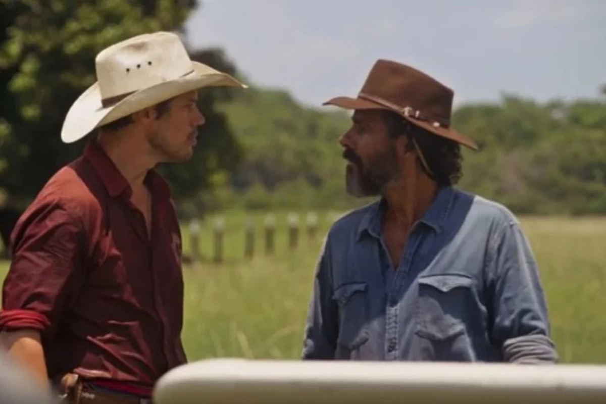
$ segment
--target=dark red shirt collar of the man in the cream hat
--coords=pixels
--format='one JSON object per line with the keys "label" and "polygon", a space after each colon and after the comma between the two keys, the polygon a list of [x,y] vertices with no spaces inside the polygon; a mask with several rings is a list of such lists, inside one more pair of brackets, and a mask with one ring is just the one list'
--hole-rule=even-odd
{"label": "dark red shirt collar of the man in the cream hat", "polygon": [[[94,139],[86,145],[84,149],[84,157],[87,159],[95,170],[95,173],[101,179],[107,193],[110,197],[123,195],[130,197],[131,188],[128,180],[122,175],[118,167],[112,159],[105,153],[105,150]],[[149,170],[145,176],[145,184],[150,187],[152,194],[170,197],[170,187],[162,176],[156,173],[155,170]]]}

